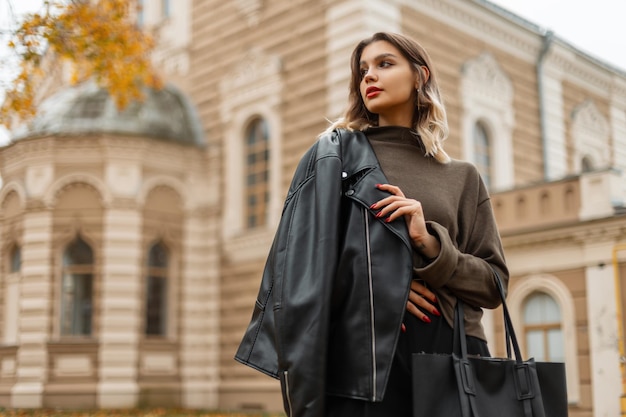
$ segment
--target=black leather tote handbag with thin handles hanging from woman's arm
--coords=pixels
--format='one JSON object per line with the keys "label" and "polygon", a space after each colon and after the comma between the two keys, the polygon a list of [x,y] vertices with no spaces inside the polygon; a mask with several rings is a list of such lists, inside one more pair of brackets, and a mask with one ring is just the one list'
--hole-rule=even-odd
{"label": "black leather tote handbag with thin handles hanging from woman's arm", "polygon": [[[415,417],[566,417],[565,364],[522,360],[497,271],[506,333],[506,358],[468,356],[463,303],[455,308],[453,351],[414,353]],[[515,358],[511,358],[511,348]]]}

